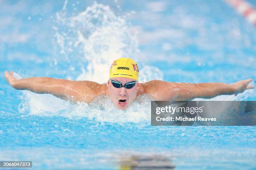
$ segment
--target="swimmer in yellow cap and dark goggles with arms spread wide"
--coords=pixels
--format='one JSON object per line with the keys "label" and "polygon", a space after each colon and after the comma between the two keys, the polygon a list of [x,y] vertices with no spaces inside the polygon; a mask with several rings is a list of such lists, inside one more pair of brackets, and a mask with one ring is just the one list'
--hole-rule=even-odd
{"label": "swimmer in yellow cap and dark goggles with arms spread wide", "polygon": [[131,58],[119,58],[110,67],[107,83],[92,81],[72,81],[50,77],[30,77],[16,79],[13,72],[5,71],[7,82],[17,90],[35,93],[49,93],[73,103],[92,102],[99,95],[108,95],[115,107],[125,110],[138,95],[146,93],[154,100],[186,101],[195,98],[212,98],[218,95],[237,95],[254,87],[252,79],[241,80],[232,85],[226,83],[180,83],[151,80],[138,82],[138,65]]}

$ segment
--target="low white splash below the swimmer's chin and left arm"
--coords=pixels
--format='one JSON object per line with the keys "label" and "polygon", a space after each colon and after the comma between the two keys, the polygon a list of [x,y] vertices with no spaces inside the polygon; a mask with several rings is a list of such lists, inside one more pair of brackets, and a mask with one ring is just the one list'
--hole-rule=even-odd
{"label": "low white splash below the swimmer's chin and left arm", "polygon": [[62,116],[70,119],[87,117],[89,120],[99,122],[149,122],[150,102],[148,95],[140,95],[127,110],[117,109],[108,96],[99,96],[90,103],[78,102],[76,105],[71,102],[58,99],[49,94],[35,94],[23,92],[23,98],[19,111],[29,112],[30,115],[40,116]]}

